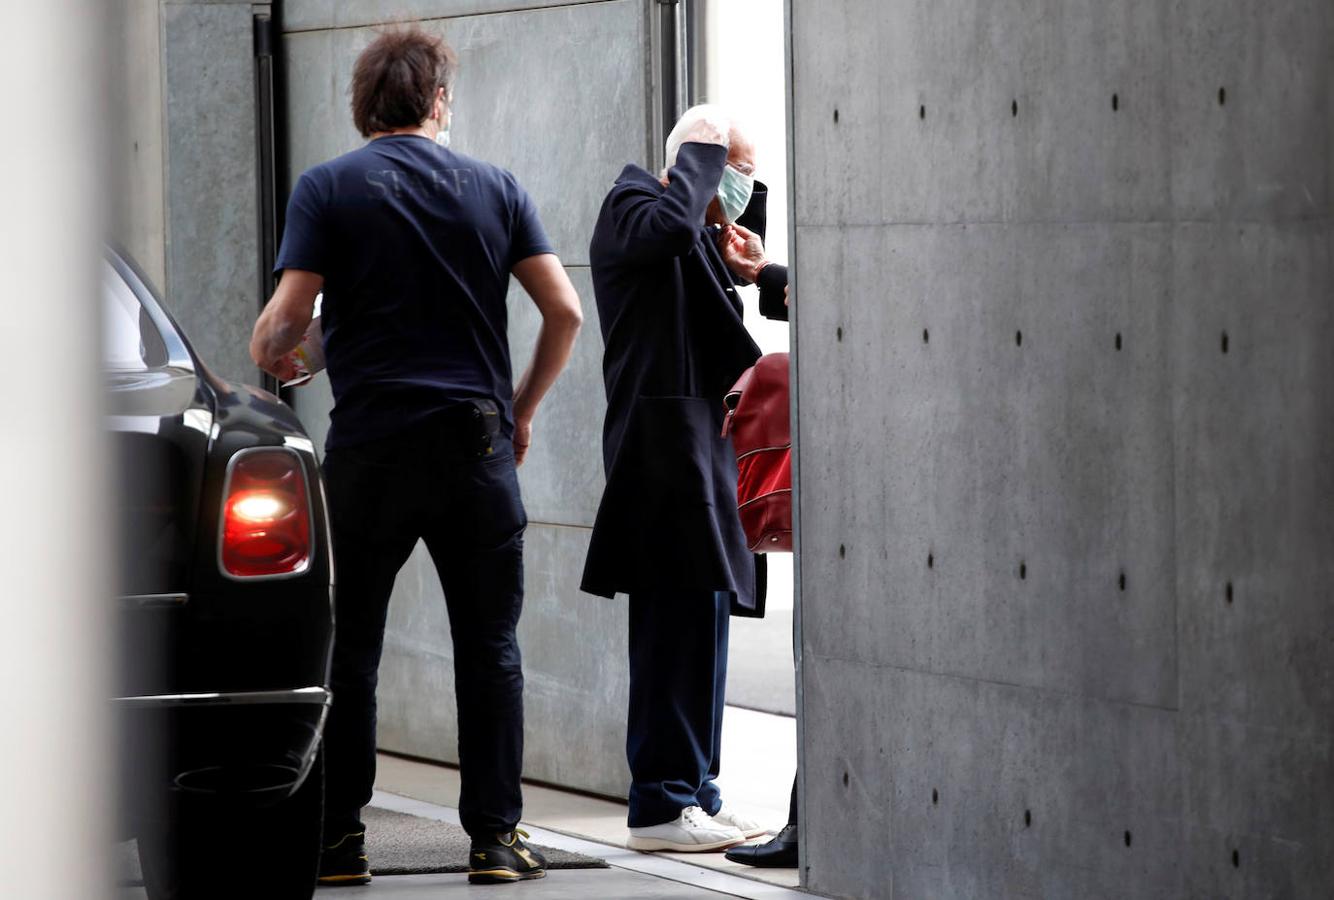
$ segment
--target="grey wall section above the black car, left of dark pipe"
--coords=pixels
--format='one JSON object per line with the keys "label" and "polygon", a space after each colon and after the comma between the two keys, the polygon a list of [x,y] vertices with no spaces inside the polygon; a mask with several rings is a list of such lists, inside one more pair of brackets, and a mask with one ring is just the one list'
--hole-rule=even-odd
{"label": "grey wall section above the black car, left of dark pipe", "polygon": [[109,36],[111,237],[219,375],[257,384],[253,16],[241,0],[133,0]]}

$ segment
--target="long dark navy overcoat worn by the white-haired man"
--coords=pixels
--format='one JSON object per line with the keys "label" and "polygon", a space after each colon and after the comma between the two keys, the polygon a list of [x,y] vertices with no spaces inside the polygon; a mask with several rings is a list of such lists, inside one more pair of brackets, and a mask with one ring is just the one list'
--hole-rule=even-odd
{"label": "long dark navy overcoat worn by the white-haired man", "polygon": [[735,613],[762,615],[763,565],[746,545],[736,457],[720,436],[723,396],[760,355],[704,227],[726,159],[724,147],[684,144],[667,187],[627,165],[598,216],[607,488],[582,587],[730,591]]}

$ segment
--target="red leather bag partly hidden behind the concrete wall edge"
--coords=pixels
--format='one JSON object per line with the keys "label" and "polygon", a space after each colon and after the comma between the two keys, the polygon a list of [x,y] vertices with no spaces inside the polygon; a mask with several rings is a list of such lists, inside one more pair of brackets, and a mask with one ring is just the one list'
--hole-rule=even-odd
{"label": "red leather bag partly hidden behind the concrete wall edge", "polygon": [[792,552],[792,431],[787,353],[746,369],[724,399],[723,437],[736,451],[736,512],[755,553]]}

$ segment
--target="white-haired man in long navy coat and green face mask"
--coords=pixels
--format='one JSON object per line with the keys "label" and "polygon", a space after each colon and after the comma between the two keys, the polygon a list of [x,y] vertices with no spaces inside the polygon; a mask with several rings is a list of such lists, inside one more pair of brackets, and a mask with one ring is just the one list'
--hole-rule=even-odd
{"label": "white-haired man in long navy coat and green face mask", "polygon": [[[759,357],[738,283],[766,267],[755,148],[716,107],[686,112],[655,176],[627,165],[591,264],[607,488],[583,589],[630,595],[630,847],[723,849],[764,833],[719,793],[730,615],[763,615],[736,515],[723,396]],[[756,225],[762,231],[760,225]],[[782,291],[782,288],[778,288]]]}

